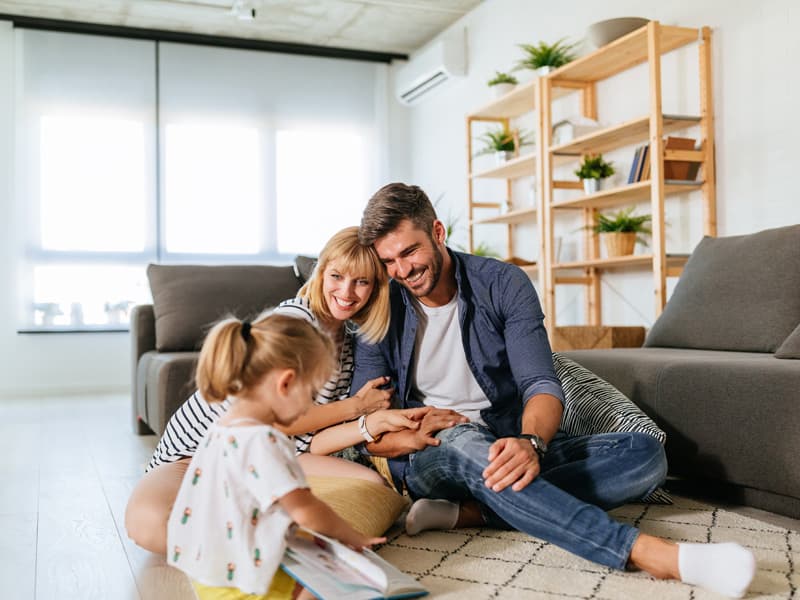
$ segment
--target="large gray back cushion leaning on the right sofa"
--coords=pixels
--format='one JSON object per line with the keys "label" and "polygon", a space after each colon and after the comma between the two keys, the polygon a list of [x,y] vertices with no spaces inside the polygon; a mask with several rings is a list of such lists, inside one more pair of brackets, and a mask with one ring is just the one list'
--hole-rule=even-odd
{"label": "large gray back cushion leaning on the right sofa", "polygon": [[695,248],[645,346],[775,352],[800,321],[800,225]]}

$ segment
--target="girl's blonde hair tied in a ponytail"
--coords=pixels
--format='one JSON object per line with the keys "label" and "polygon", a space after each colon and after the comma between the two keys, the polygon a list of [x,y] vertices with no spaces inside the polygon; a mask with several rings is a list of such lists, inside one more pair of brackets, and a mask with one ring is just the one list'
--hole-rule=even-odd
{"label": "girl's blonde hair tied in a ponytail", "polygon": [[336,366],[331,338],[309,322],[262,313],[253,323],[228,317],[211,328],[197,363],[197,389],[209,402],[246,394],[273,369],[294,369],[319,387]]}

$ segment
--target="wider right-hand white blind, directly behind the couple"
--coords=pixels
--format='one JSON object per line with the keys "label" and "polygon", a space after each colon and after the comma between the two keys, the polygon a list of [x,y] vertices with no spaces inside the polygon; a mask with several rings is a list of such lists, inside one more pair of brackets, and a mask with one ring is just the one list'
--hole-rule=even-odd
{"label": "wider right-hand white blind, directly behind the couple", "polygon": [[160,44],[164,259],[289,260],[358,224],[380,182],[384,69]]}

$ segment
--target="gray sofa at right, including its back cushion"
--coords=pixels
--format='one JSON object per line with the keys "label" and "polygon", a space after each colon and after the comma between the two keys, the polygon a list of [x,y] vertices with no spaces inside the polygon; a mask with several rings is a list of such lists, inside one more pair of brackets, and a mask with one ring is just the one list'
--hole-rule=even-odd
{"label": "gray sofa at right, including its back cushion", "polygon": [[703,239],[643,348],[563,354],[664,429],[671,475],[800,518],[800,225]]}

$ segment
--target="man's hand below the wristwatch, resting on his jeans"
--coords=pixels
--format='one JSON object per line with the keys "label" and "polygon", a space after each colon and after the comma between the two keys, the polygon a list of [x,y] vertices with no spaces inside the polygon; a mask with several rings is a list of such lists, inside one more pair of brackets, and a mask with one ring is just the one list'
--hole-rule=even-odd
{"label": "man's hand below the wristwatch, resting on his jeans", "polygon": [[529,440],[500,438],[489,448],[489,466],[483,470],[486,487],[501,492],[509,485],[524,489],[539,475],[539,455]]}

